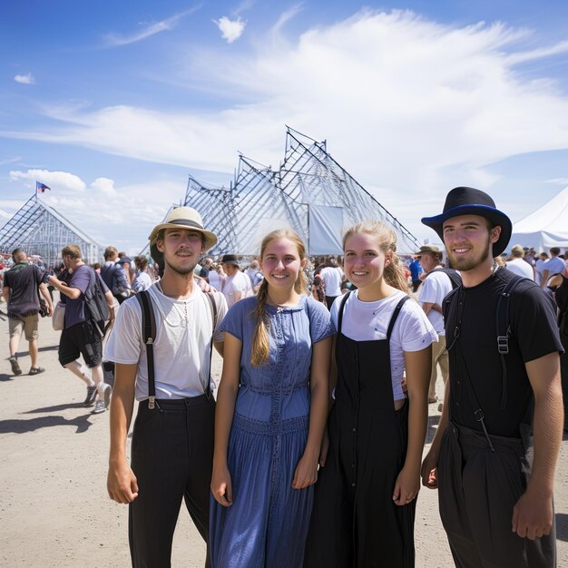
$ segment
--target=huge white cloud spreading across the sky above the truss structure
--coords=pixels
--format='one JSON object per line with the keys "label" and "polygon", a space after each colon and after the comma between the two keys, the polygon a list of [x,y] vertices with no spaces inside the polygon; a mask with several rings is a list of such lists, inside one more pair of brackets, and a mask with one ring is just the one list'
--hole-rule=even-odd
{"label": "huge white cloud spreading across the sky above the truss structure", "polygon": [[[268,38],[283,34],[298,9],[280,15]],[[568,148],[568,97],[552,80],[515,68],[564,44],[535,47],[529,30],[364,11],[284,39],[257,38],[244,54],[192,52],[183,76],[210,94],[207,111],[69,103],[46,109],[54,128],[0,133],[231,172],[237,151],[277,168],[289,124],[327,139],[333,157],[416,234],[424,233],[420,217],[441,211],[451,187],[491,188],[498,178],[489,164]],[[240,103],[215,109],[217,93]],[[172,200],[179,197],[178,185]]]}

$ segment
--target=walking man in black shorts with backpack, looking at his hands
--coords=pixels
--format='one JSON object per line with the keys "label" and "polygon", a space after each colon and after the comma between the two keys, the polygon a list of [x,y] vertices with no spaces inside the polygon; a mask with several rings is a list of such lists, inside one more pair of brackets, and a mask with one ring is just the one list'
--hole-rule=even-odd
{"label": "walking man in black shorts with backpack, looking at his hands", "polygon": [[[78,245],[70,244],[61,251],[65,268],[71,279],[67,282],[50,276],[48,282],[65,296],[64,329],[59,340],[59,362],[86,384],[84,406],[93,406],[93,414],[103,413],[111,402],[113,388],[103,381],[104,319],[114,318],[113,294],[97,273],[83,262]],[[94,291],[102,289],[102,298],[93,298]],[[107,312],[100,305],[107,303]],[[94,301],[94,304],[91,302]],[[96,304],[99,304],[98,306]],[[99,313],[95,314],[94,310]],[[83,367],[77,360],[83,356]]]}

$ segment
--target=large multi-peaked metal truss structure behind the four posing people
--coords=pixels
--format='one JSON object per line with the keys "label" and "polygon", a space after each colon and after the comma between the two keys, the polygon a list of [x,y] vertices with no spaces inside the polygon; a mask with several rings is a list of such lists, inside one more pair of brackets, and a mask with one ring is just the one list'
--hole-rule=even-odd
{"label": "large multi-peaked metal truss structure behind the four posing people", "polygon": [[419,242],[317,142],[287,127],[284,162],[276,171],[240,155],[229,188],[211,188],[190,176],[184,204],[200,211],[219,242],[211,253],[258,254],[270,230],[290,227],[308,254],[340,254],[341,231],[376,219],[397,233],[397,250]]}

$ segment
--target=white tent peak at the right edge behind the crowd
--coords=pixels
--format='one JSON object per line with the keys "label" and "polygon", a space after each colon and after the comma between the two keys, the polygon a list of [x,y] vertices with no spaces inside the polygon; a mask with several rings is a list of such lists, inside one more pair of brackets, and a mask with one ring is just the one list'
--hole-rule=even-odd
{"label": "white tent peak at the right edge behind the crowd", "polygon": [[568,187],[540,209],[514,223],[509,243],[540,251],[551,247],[568,250]]}

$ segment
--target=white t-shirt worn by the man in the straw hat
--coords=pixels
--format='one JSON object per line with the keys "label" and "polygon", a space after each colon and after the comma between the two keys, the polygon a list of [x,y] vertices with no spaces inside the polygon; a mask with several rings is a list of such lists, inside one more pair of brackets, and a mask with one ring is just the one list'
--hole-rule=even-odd
{"label": "white t-shirt worn by the man in the straw hat", "polygon": [[[212,327],[209,299],[197,286],[188,299],[168,298],[156,284],[148,291],[156,319],[153,344],[156,397],[199,397],[205,392],[209,380]],[[217,305],[215,341],[222,341],[223,333],[218,329],[227,313],[227,303],[220,293],[215,294],[214,299]],[[137,299],[122,302],[104,355],[115,363],[138,364],[136,399],[148,398],[142,309]],[[214,385],[211,384],[211,388]]]}

